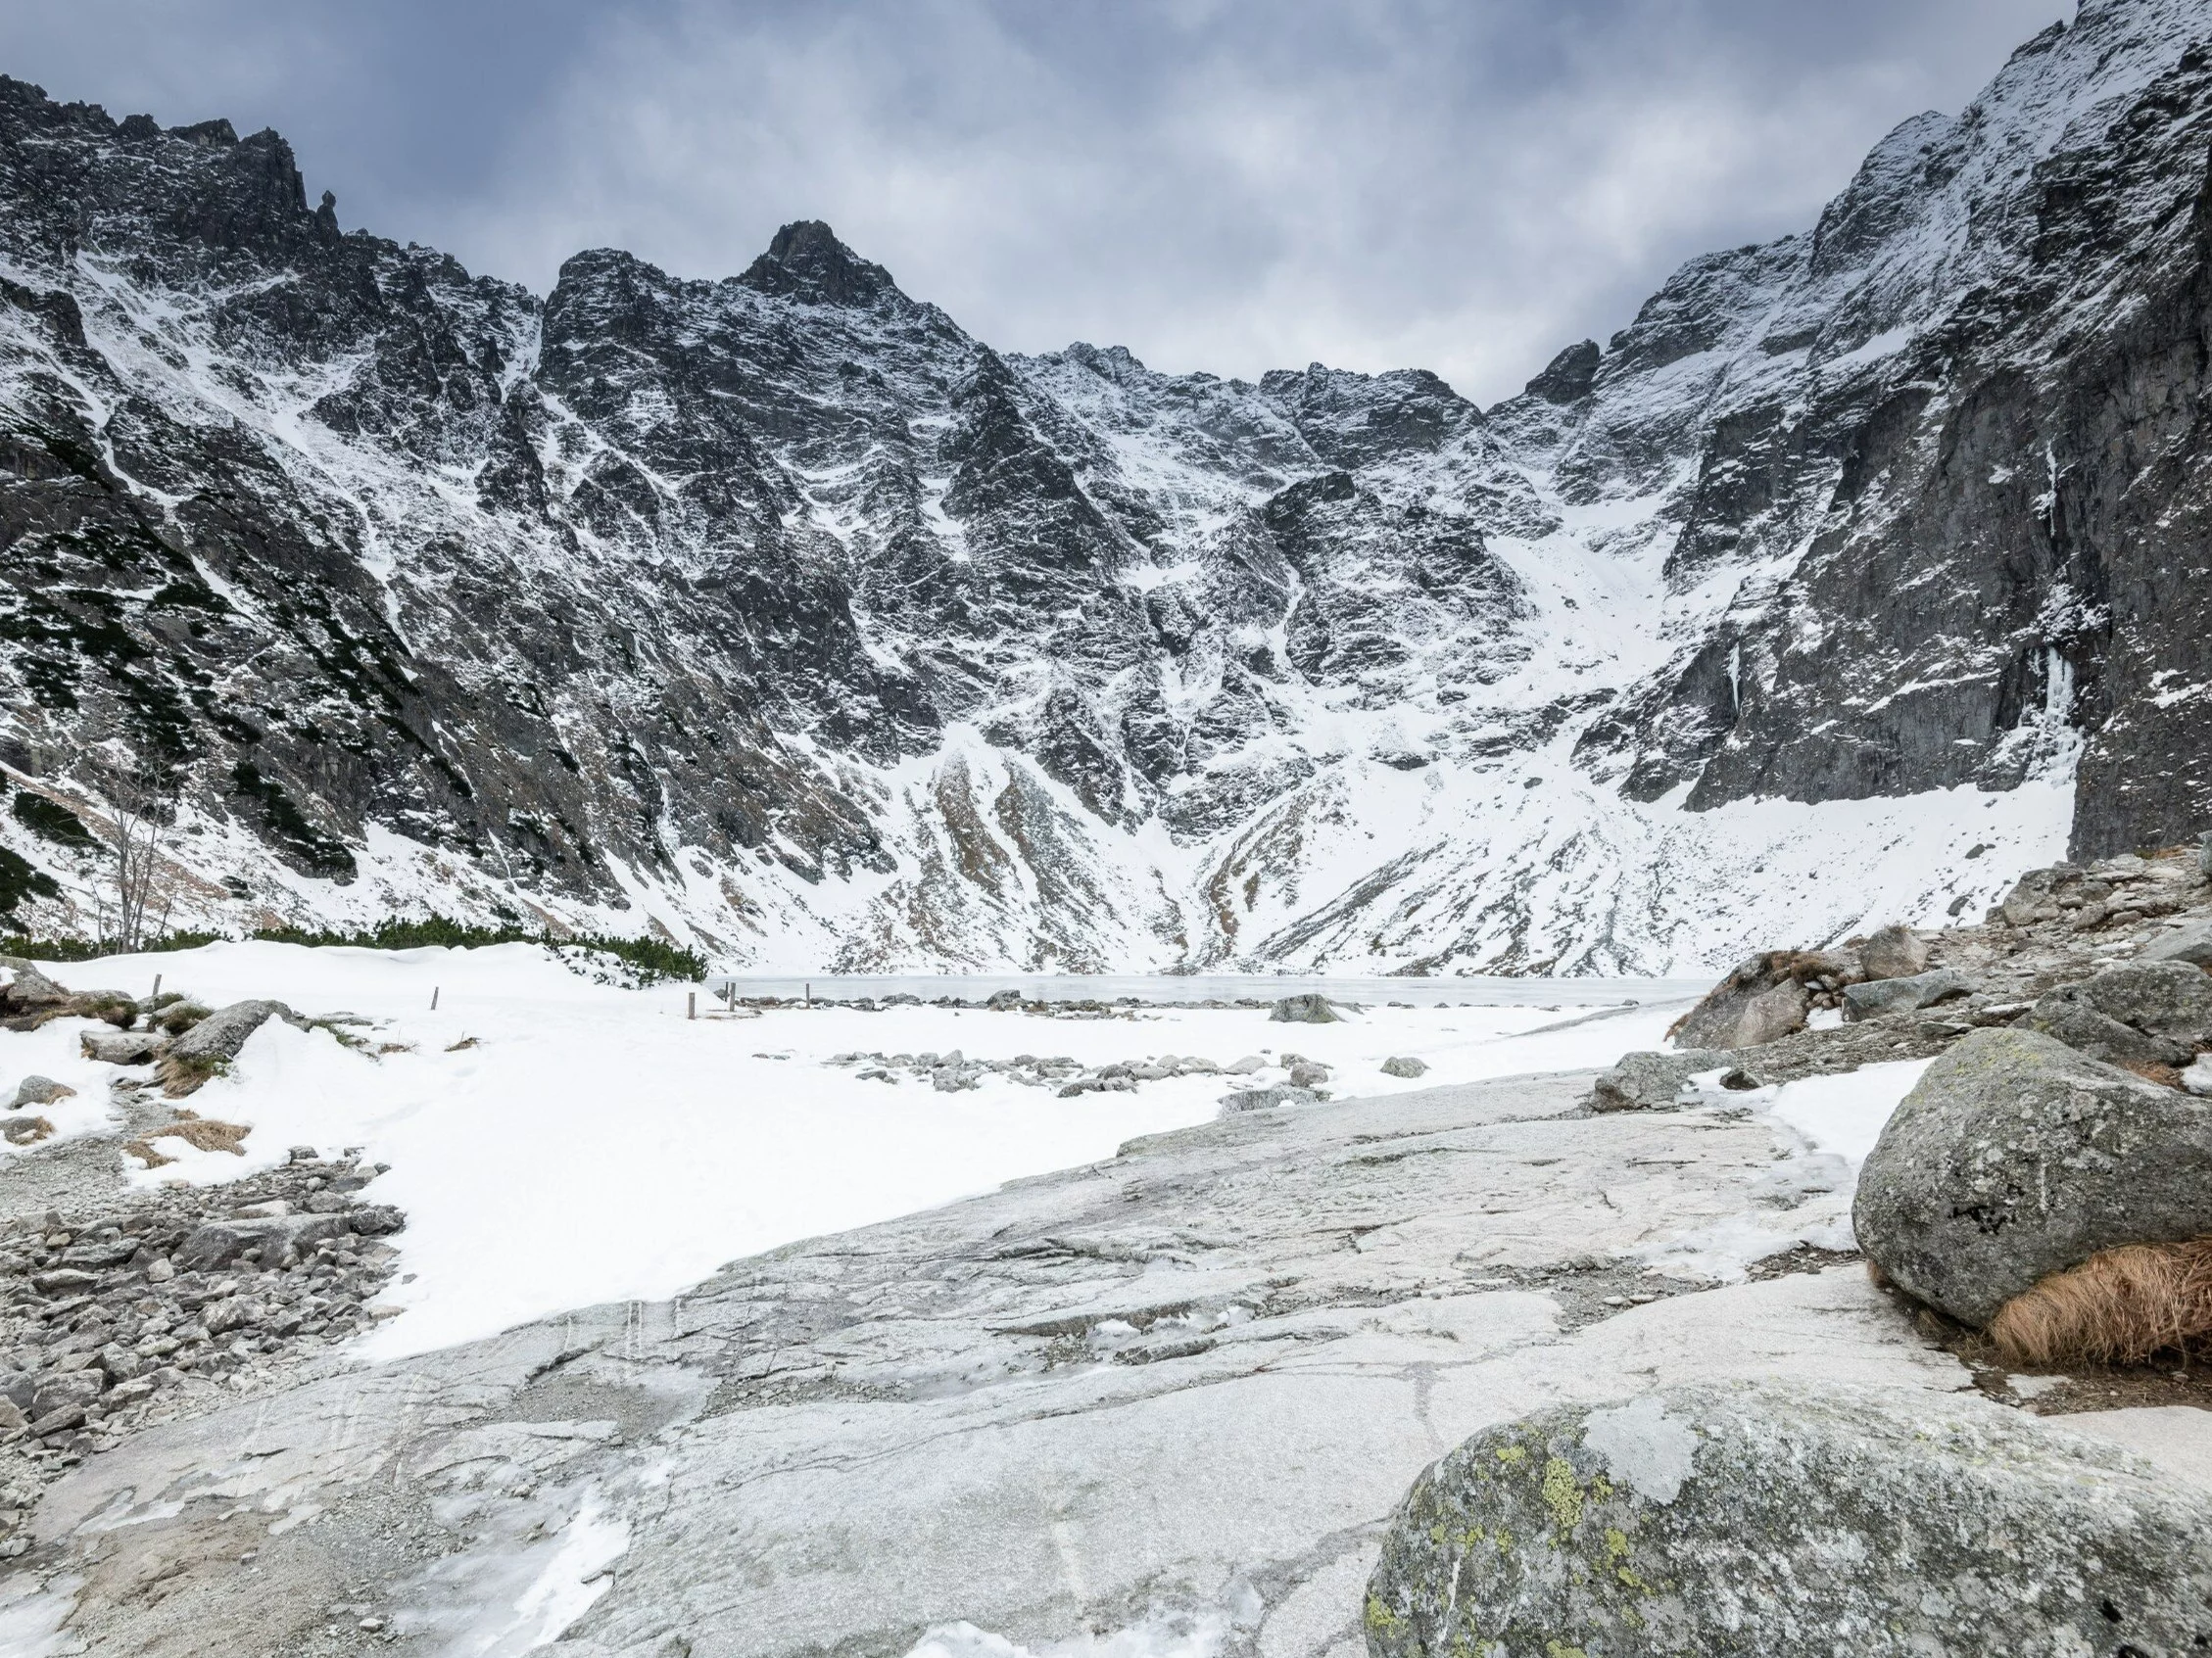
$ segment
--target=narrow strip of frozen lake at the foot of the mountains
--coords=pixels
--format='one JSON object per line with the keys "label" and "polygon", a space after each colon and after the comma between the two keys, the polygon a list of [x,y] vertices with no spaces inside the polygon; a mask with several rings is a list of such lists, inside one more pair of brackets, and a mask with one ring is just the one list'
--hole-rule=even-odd
{"label": "narrow strip of frozen lake at the foot of the mountains", "polygon": [[1020,990],[1042,1001],[1117,1001],[1137,997],[1152,1004],[1276,999],[1318,993],[1332,1001],[1416,1008],[1617,1008],[1630,1001],[1679,1001],[1701,997],[1712,979],[1307,979],[1259,973],[907,973],[845,977],[714,975],[712,993],[734,988],[739,997],[803,997],[849,1001],[854,997],[911,995],[922,1001],[958,997],[982,1001],[1000,990]]}

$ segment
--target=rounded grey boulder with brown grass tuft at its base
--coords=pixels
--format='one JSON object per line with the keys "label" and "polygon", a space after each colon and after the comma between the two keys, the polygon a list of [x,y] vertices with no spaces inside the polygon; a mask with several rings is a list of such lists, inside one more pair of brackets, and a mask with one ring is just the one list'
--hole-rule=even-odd
{"label": "rounded grey boulder with brown grass tuft at its base", "polygon": [[2101,1249],[2212,1234],[2212,1105],[2033,1030],[1975,1030],[1882,1127],[1851,1222],[1891,1282],[1980,1326]]}

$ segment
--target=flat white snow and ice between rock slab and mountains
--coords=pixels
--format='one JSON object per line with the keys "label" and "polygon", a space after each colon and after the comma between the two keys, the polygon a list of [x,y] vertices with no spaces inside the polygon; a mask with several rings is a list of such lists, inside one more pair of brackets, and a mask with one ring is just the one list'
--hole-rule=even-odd
{"label": "flat white snow and ice between rock slab and mountains", "polygon": [[[367,1337],[369,1357],[577,1307],[666,1300],[743,1256],[1110,1158],[1130,1138],[1210,1121],[1234,1088],[1287,1081],[1294,1054],[1329,1066],[1336,1099],[1595,1070],[1661,1046],[1688,997],[1705,988],[1650,979],[823,977],[812,982],[821,1006],[732,1017],[701,995],[699,1017],[688,1017],[695,986],[595,984],[526,944],[210,944],[55,968],[73,988],[137,995],[157,973],[164,990],[208,1006],[279,997],[305,1015],[361,1021],[352,1026],[361,1046],[272,1021],[228,1074],[188,1101],[204,1116],[248,1125],[246,1156],[170,1138],[161,1150],[175,1163],[126,1167],[144,1185],[219,1183],[281,1163],[294,1145],[361,1147],[387,1163],[372,1192],[407,1211],[403,1280],[385,1293],[405,1311]],[[801,993],[805,984],[748,979],[739,990]],[[1146,1006],[1075,1017],[975,1006],[1004,988]],[[900,990],[922,1004],[834,1006]],[[1321,990],[1345,1017],[1274,1024],[1263,1006],[1192,1006],[1292,990]],[[969,1006],[929,1006],[940,995]],[[0,1090],[27,1072],[77,1090],[49,1110],[62,1136],[119,1121],[108,1099],[115,1070],[80,1054],[82,1028],[62,1019],[0,1035]],[[956,1050],[971,1061],[1037,1054],[1086,1068],[1166,1054],[1219,1066],[1256,1059],[1259,1070],[1250,1079],[1175,1074],[1073,1099],[1006,1072],[960,1092],[938,1092],[927,1072],[916,1074],[925,1054]],[[852,1054],[905,1063],[854,1063]],[[1391,1077],[1387,1059],[1420,1059],[1427,1070]],[[1874,1110],[1876,1127],[1889,1103]],[[1807,1123],[1805,1136],[1823,1138],[1820,1127]],[[1847,1161],[1863,1154],[1867,1134],[1858,1121],[1838,1134],[1849,1141]],[[20,1154],[0,1147],[0,1156]]]}

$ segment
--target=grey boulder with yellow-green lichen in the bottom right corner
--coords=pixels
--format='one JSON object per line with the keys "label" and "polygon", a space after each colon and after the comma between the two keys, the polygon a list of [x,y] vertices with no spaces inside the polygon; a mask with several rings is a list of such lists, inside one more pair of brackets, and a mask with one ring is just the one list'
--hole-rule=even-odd
{"label": "grey boulder with yellow-green lichen in the bottom right corner", "polygon": [[1681,1386],[1413,1483],[1374,1658],[2073,1658],[2212,1640],[2212,1497],[1978,1395]]}

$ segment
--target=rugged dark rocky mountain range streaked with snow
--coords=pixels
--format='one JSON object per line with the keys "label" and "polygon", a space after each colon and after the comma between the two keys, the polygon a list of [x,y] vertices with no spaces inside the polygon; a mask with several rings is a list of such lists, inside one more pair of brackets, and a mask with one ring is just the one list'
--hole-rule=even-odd
{"label": "rugged dark rocky mountain range streaked with snow", "polygon": [[[0,80],[0,867],[726,964],[1697,970],[2212,827],[2212,4],[2090,0],[1478,409],[544,298]],[[82,833],[82,831],[80,831]]]}

